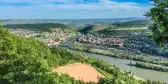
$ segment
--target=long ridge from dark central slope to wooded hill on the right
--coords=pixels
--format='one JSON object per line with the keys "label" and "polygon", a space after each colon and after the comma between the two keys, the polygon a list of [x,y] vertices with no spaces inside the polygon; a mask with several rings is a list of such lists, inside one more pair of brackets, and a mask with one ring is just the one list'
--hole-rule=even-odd
{"label": "long ridge from dark central slope to wooded hill on the right", "polygon": [[108,28],[111,28],[111,29],[127,28],[126,30],[128,30],[128,28],[148,27],[150,26],[151,23],[152,21],[150,20],[134,20],[134,21],[126,21],[126,22],[120,22],[120,23],[112,23],[111,26],[110,25],[89,25],[79,30],[79,32],[87,34],[87,33],[98,32]]}

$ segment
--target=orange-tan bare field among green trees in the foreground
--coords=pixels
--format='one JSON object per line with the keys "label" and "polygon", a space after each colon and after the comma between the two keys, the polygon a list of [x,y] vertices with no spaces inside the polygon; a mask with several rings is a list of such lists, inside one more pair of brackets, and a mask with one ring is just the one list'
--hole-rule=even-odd
{"label": "orange-tan bare field among green trees in the foreground", "polygon": [[89,64],[71,64],[58,68],[52,68],[54,72],[60,74],[68,74],[76,80],[83,80],[84,82],[98,82],[99,78],[104,76]]}

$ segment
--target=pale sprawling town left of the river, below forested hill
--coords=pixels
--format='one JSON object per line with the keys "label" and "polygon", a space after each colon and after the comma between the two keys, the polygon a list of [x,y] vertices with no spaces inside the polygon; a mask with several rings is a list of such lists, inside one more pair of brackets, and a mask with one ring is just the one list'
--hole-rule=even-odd
{"label": "pale sprawling town left of the river, below forested hill", "polygon": [[47,46],[58,46],[61,42],[75,36],[71,32],[63,31],[61,28],[51,28],[50,32],[37,33],[27,29],[11,29],[12,33],[17,36],[33,37],[44,42]]}

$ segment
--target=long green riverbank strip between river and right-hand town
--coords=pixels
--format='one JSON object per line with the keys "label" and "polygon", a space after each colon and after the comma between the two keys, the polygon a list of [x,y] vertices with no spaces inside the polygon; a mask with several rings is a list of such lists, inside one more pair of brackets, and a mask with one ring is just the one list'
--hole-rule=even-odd
{"label": "long green riverbank strip between river and right-hand town", "polygon": [[124,52],[122,50],[117,50],[117,49],[113,49],[113,50],[98,49],[94,47],[87,47],[84,45],[74,45],[74,44],[71,44],[69,48],[73,50],[95,53],[95,54],[105,55],[105,56],[119,58],[119,59],[149,62],[151,64],[157,64],[157,65],[168,67],[168,60],[162,57],[149,56],[149,55],[145,56],[145,54],[143,55],[143,54],[136,54],[131,52]]}

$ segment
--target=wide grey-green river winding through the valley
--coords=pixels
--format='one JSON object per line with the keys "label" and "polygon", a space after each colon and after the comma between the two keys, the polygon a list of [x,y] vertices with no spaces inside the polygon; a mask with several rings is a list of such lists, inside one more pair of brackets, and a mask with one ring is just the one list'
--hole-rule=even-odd
{"label": "wide grey-green river winding through the valley", "polygon": [[134,66],[129,66],[128,64],[130,63],[130,61],[126,59],[118,59],[118,58],[108,57],[108,56],[94,54],[94,53],[71,50],[67,47],[67,45],[69,45],[71,42],[72,40],[69,40],[66,44],[60,47],[67,49],[69,52],[84,53],[88,57],[99,58],[101,60],[107,61],[111,65],[117,66],[120,70],[131,71],[133,74],[143,79],[149,79],[151,81],[161,81],[161,82],[168,83],[168,73],[167,72],[159,72],[159,71],[147,70],[147,69],[137,68]]}

